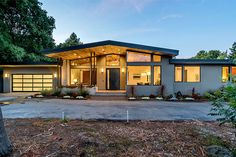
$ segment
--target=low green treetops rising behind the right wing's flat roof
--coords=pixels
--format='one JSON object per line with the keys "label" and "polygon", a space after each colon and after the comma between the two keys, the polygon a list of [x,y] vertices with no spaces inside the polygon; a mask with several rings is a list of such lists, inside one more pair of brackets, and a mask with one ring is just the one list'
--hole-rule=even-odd
{"label": "low green treetops rising behind the right wing's flat roof", "polygon": [[192,59],[226,59],[228,57],[227,51],[221,52],[220,50],[201,50]]}

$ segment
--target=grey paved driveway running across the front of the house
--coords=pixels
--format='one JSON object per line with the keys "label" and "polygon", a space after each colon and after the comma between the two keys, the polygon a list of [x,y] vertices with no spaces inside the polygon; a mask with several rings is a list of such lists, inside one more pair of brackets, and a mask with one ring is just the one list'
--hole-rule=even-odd
{"label": "grey paved driveway running across the front of the house", "polygon": [[2,106],[5,118],[60,118],[125,120],[214,120],[210,103],[165,101],[95,101],[39,99]]}

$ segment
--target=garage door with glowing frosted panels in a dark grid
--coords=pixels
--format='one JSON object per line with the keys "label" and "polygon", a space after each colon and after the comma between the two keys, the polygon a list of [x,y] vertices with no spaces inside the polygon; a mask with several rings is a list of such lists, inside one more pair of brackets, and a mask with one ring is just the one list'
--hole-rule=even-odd
{"label": "garage door with glowing frosted panels in a dark grid", "polygon": [[13,92],[38,92],[45,89],[52,89],[53,75],[40,74],[13,74],[12,91]]}

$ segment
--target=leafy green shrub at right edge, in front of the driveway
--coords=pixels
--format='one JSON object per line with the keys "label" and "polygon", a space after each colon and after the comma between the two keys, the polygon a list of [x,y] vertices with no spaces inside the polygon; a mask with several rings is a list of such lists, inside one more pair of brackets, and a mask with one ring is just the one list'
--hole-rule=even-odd
{"label": "leafy green shrub at right edge, in front of the driveway", "polygon": [[229,84],[210,97],[213,100],[210,115],[217,116],[220,124],[231,123],[236,129],[236,84]]}

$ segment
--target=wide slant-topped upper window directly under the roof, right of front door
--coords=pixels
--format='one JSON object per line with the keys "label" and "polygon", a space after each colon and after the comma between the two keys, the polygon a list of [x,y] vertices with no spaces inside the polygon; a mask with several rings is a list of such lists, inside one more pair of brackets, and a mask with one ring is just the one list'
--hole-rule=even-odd
{"label": "wide slant-topped upper window directly under the roof, right of front door", "polygon": [[127,52],[127,62],[151,62],[151,54]]}

